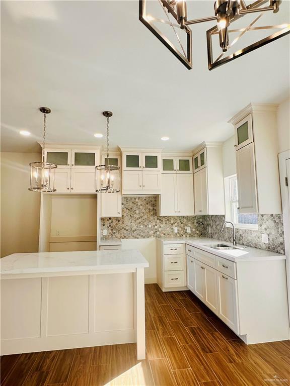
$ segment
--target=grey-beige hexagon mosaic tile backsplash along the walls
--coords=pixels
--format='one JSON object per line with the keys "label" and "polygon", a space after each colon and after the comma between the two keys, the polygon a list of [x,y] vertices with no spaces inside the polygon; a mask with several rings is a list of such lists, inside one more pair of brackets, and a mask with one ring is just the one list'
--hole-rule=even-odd
{"label": "grey-beige hexagon mosaic tile backsplash along the walls", "polygon": [[[224,221],[225,216],[159,217],[156,197],[122,197],[122,217],[102,218],[101,232],[107,229],[107,238],[118,239],[204,236],[232,241],[231,228],[221,232]],[[261,233],[269,235],[268,244],[261,242]],[[238,244],[285,253],[282,215],[259,215],[258,230],[236,229],[236,235]]]}

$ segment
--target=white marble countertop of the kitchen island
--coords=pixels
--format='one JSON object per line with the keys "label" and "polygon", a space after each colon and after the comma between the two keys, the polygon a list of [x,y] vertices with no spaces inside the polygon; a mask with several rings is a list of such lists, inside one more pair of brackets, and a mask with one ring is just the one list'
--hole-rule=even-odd
{"label": "white marble countertop of the kitchen island", "polygon": [[14,253],[0,259],[0,274],[41,274],[56,272],[117,270],[146,268],[148,261],[135,250],[105,250],[82,252]]}

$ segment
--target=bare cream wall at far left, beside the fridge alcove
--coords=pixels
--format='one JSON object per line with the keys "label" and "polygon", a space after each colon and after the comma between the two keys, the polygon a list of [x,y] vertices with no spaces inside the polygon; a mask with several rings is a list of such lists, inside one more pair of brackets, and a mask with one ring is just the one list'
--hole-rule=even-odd
{"label": "bare cream wall at far left, beside the fridge alcove", "polygon": [[1,153],[1,257],[37,252],[40,194],[29,191],[29,163],[39,153]]}

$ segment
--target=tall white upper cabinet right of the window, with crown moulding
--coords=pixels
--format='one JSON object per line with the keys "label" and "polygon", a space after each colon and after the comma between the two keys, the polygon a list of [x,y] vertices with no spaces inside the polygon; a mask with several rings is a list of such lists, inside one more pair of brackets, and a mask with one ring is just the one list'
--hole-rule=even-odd
{"label": "tall white upper cabinet right of the window, with crown moulding", "polygon": [[276,110],[249,104],[229,121],[235,127],[240,213],[281,213]]}

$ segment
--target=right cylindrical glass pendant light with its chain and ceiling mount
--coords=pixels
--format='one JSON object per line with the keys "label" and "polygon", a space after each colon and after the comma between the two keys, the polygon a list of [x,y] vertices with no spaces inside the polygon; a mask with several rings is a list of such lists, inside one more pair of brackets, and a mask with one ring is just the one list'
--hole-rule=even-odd
{"label": "right cylindrical glass pendant light with its chain and ceiling mount", "polygon": [[109,164],[109,118],[111,111],[104,111],[103,116],[107,118],[107,157],[104,165],[96,166],[96,192],[117,193],[120,191],[120,166]]}

